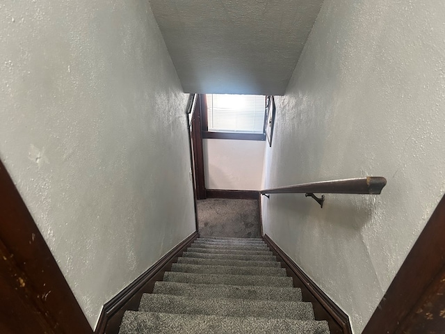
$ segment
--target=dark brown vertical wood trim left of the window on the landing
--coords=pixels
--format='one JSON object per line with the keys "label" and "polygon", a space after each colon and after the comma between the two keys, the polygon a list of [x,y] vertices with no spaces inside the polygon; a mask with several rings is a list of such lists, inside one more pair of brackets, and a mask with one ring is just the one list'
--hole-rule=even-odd
{"label": "dark brown vertical wood trim left of the window on the landing", "polygon": [[193,173],[195,174],[196,199],[206,199],[206,184],[204,176],[204,150],[202,147],[201,117],[202,97],[198,99],[192,120],[193,138]]}

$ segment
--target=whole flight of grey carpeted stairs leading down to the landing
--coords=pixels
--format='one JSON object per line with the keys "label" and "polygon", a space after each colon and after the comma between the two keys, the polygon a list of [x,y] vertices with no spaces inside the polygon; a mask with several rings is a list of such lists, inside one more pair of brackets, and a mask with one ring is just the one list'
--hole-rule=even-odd
{"label": "whole flight of grey carpeted stairs leading down to the landing", "polygon": [[262,239],[199,238],[127,311],[120,334],[329,334]]}

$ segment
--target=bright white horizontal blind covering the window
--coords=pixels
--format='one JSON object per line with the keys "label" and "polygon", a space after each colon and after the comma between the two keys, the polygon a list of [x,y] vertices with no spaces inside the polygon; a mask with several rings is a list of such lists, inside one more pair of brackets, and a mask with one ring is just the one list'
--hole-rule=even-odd
{"label": "bright white horizontal blind covering the window", "polygon": [[262,134],[264,95],[207,94],[209,132]]}

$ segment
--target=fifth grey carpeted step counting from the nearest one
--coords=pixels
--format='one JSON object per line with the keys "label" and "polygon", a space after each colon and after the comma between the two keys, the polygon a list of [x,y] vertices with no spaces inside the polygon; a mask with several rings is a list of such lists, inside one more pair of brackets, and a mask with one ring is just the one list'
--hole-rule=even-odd
{"label": "fifth grey carpeted step counting from the nearest one", "polygon": [[223,275],[286,276],[286,269],[273,267],[206,266],[201,264],[174,263],[171,271],[181,273],[208,273]]}

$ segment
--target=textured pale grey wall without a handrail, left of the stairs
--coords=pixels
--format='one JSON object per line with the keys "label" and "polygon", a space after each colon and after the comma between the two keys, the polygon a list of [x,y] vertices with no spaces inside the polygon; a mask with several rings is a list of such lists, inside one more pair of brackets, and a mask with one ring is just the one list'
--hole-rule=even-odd
{"label": "textured pale grey wall without a handrail, left of the stairs", "polygon": [[94,327],[195,230],[187,95],[147,1],[6,1],[0,45],[0,158]]}

